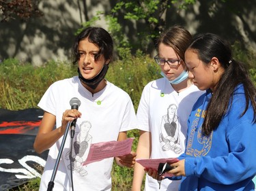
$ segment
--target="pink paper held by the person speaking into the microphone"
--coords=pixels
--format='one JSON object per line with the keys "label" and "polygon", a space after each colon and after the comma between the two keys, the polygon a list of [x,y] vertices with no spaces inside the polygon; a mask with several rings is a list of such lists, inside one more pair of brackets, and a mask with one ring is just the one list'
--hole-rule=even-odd
{"label": "pink paper held by the person speaking into the microphone", "polygon": [[91,144],[89,154],[83,165],[91,162],[111,158],[115,156],[124,156],[132,151],[132,141],[134,138],[128,138],[124,141],[109,141]]}

